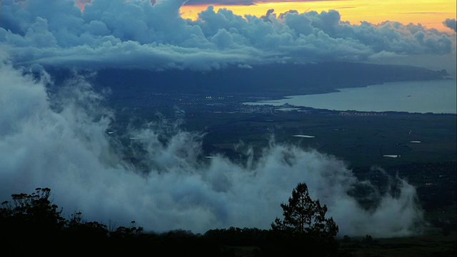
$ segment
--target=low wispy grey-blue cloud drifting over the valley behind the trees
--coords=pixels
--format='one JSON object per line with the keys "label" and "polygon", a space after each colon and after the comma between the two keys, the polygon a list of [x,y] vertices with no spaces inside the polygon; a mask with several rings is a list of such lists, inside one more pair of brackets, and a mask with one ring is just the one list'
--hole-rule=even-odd
{"label": "low wispy grey-blue cloud drifting over the valley behind the trees", "polygon": [[[161,124],[126,132],[141,146],[136,151],[109,133],[115,114],[83,79],[51,93],[49,76],[34,79],[5,61],[0,77],[3,200],[49,187],[64,213],[81,211],[89,221],[128,226],[134,220],[147,231],[204,233],[270,228],[282,216],[280,203],[305,182],[311,197],[327,204],[341,236],[405,236],[421,221],[415,188],[399,178],[386,176],[393,183],[378,190],[333,156],[274,142],[256,161],[204,158],[199,133]],[[124,153],[138,153],[146,171]],[[376,208],[362,208],[351,196],[354,188],[376,199]]]}

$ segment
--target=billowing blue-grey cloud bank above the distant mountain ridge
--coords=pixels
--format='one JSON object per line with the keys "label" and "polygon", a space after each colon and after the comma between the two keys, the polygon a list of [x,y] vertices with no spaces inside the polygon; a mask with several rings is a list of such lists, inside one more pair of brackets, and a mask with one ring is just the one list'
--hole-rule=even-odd
{"label": "billowing blue-grey cloud bank above the distant mountain ridge", "polygon": [[185,0],[1,2],[0,42],[16,64],[77,68],[219,69],[271,62],[366,61],[448,54],[455,36],[421,24],[341,21],[338,11],[238,16],[209,6],[182,19]]}

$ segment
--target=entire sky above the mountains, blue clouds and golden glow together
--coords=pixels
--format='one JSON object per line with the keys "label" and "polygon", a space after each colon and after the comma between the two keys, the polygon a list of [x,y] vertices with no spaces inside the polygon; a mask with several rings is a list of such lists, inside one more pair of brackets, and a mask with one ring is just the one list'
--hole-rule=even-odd
{"label": "entire sky above the mountains, blue clouds and golden glow together", "polygon": [[44,66],[209,70],[401,59],[453,64],[453,72],[456,2],[3,0],[0,43],[14,62]]}

